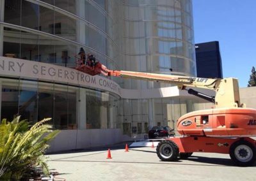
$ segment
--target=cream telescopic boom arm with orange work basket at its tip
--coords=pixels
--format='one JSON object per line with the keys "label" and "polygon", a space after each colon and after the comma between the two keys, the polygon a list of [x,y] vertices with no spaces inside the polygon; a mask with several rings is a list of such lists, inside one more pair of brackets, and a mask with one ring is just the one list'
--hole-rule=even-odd
{"label": "cream telescopic boom arm with orange work basket at its tip", "polygon": [[[116,71],[106,68],[106,66],[97,62],[93,67],[78,66],[79,71],[90,75],[103,74],[105,76],[120,76],[123,78],[132,78],[137,80],[150,80],[156,82],[166,82],[177,85],[180,90],[187,90],[189,94],[193,94],[215,104],[216,108],[237,108],[244,106],[240,103],[239,87],[236,78],[199,78],[193,76],[177,76],[165,75],[157,73],[143,73],[135,71]],[[198,87],[202,89],[210,89],[216,92],[216,96],[211,97],[188,87]]]}

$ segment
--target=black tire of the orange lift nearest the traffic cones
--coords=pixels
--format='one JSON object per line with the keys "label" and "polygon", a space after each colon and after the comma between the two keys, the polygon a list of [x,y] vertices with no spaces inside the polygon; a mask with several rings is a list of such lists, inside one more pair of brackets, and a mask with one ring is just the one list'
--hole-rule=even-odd
{"label": "black tire of the orange lift nearest the traffic cones", "polygon": [[179,147],[171,140],[163,140],[157,145],[156,152],[161,161],[176,161]]}

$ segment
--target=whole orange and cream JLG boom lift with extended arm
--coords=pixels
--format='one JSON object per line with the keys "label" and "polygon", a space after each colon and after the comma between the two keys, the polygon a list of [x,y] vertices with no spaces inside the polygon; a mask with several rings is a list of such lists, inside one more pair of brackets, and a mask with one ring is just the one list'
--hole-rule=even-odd
{"label": "whole orange and cream JLG boom lift with extended arm", "polygon": [[[198,78],[163,75],[134,71],[109,70],[97,62],[95,66],[77,66],[79,71],[90,75],[121,76],[139,80],[167,82],[177,85],[200,98],[214,103],[209,110],[186,113],[177,122],[181,137],[168,138],[157,145],[157,156],[162,161],[187,158],[193,152],[229,154],[237,166],[252,166],[256,160],[256,110],[240,103],[236,78]],[[210,89],[215,97],[207,96],[189,87]]]}

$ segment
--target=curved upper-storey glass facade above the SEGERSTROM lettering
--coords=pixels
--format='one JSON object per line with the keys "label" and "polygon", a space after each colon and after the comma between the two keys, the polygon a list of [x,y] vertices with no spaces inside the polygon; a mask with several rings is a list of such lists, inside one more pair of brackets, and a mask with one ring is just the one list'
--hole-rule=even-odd
{"label": "curved upper-storey glass facade above the SEGERSTROM lettering", "polygon": [[30,61],[74,66],[80,47],[116,69],[120,47],[118,3],[99,1],[4,1],[3,55]]}

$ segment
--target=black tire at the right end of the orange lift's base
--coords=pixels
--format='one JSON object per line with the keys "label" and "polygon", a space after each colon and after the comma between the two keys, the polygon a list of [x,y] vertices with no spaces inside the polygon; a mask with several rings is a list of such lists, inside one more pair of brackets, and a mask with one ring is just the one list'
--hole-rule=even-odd
{"label": "black tire at the right end of the orange lift's base", "polygon": [[256,161],[256,148],[249,141],[239,140],[230,146],[229,155],[237,166],[252,166]]}

